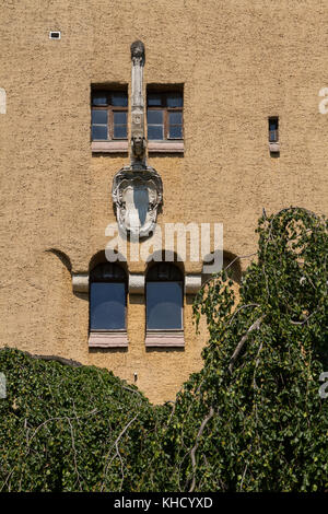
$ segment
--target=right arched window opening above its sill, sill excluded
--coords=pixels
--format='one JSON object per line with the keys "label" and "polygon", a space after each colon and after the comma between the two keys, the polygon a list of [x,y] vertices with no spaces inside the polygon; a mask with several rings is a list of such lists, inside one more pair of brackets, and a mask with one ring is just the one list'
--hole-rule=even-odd
{"label": "right arched window opening above its sill, sill excluded", "polygon": [[153,266],[147,274],[147,329],[181,330],[184,280],[171,264]]}

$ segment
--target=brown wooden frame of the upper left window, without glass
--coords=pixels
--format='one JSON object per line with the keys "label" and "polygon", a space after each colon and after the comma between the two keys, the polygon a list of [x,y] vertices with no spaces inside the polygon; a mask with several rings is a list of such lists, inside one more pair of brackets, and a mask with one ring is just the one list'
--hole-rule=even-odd
{"label": "brown wooden frame of the upper left window, without glass", "polygon": [[[94,105],[93,104],[93,96],[96,95],[96,94],[99,94],[99,93],[106,95],[107,103],[106,104]],[[127,101],[129,102],[128,92],[126,90],[93,89],[92,92],[91,92],[91,116],[92,116],[93,109],[94,110],[106,110],[107,112],[107,139],[93,139],[93,137],[92,137],[92,127],[93,126],[105,126],[105,124],[93,124],[92,118],[91,118],[91,141],[92,142],[128,141],[129,105],[127,105],[126,107],[112,105],[112,94],[113,93],[126,94],[127,95]],[[127,137],[126,138],[116,138],[114,136],[114,113],[126,113],[127,114]]]}

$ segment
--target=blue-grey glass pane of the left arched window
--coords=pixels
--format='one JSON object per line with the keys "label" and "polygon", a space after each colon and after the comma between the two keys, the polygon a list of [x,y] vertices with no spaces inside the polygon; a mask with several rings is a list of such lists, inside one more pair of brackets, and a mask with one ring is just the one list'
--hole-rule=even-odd
{"label": "blue-grey glass pane of the left arched window", "polygon": [[126,290],[124,283],[91,283],[91,329],[118,330],[126,326]]}

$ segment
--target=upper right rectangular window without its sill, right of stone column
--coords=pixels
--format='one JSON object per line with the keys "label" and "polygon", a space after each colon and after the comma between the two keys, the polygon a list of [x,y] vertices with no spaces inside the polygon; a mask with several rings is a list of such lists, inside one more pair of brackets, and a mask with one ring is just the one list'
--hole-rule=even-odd
{"label": "upper right rectangular window without its sill, right of stone column", "polygon": [[184,94],[181,91],[152,91],[147,95],[149,140],[184,138]]}

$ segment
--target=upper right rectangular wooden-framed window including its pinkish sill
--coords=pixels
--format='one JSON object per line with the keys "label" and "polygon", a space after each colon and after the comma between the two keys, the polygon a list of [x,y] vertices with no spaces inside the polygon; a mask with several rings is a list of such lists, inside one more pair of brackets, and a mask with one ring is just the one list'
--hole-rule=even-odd
{"label": "upper right rectangular wooden-framed window including its pinkish sill", "polygon": [[149,89],[147,93],[147,126],[149,151],[183,151],[183,91]]}

